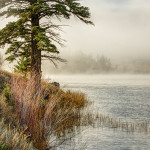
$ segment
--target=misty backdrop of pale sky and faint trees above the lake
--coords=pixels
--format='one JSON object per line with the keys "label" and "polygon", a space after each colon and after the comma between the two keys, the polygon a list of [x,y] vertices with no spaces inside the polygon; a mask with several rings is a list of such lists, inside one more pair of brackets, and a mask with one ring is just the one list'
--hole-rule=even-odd
{"label": "misty backdrop of pale sky and faint trees above the lake", "polygon": [[[43,62],[48,73],[150,72],[150,1],[149,0],[82,0],[91,12],[95,26],[77,18],[54,22],[63,27],[65,47],[58,46],[68,62],[55,68]],[[1,18],[1,26],[14,18]],[[5,50],[1,50],[4,56]],[[107,64],[105,64],[105,63]],[[12,70],[12,64],[4,63]]]}

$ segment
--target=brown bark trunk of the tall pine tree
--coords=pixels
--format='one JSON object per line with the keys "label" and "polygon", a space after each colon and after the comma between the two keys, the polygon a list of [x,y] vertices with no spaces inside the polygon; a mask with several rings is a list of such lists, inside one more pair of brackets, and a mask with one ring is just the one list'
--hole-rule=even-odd
{"label": "brown bark trunk of the tall pine tree", "polygon": [[[31,0],[31,5],[36,3],[37,0]],[[41,50],[38,49],[38,40],[35,39],[38,34],[35,28],[39,27],[39,15],[36,11],[32,11],[31,26],[31,78],[34,78],[35,81],[35,90],[39,91],[41,83]]]}

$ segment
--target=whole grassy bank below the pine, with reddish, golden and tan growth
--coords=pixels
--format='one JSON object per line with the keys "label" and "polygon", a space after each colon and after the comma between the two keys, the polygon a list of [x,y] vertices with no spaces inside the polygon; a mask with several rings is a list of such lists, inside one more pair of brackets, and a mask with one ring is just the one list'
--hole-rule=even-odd
{"label": "whole grassy bank below the pine, with reddish, golden and tan growth", "polygon": [[4,132],[0,142],[11,149],[18,149],[13,143],[24,145],[21,149],[29,149],[27,145],[32,144],[38,150],[51,149],[75,136],[81,126],[81,112],[88,104],[84,94],[63,91],[44,81],[36,92],[33,84],[32,78],[0,72],[0,118]]}

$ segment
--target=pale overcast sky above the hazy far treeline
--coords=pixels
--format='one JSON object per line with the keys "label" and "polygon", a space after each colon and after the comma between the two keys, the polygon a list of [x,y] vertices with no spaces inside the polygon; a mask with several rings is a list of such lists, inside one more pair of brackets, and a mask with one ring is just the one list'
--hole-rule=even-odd
{"label": "pale overcast sky above the hazy far treeline", "polygon": [[[150,0],[81,0],[95,26],[63,20],[61,52],[84,51],[110,58],[150,57]],[[1,28],[5,19],[1,21]]]}

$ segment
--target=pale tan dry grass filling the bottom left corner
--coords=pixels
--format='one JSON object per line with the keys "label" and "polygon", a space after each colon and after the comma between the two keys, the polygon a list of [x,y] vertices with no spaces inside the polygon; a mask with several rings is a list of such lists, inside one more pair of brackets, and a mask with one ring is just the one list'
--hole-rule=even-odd
{"label": "pale tan dry grass filling the bottom left corner", "polygon": [[[3,149],[29,150],[31,142],[27,142],[28,137],[25,130],[18,128],[19,124],[15,120],[13,106],[6,103],[4,96],[0,96],[0,143]],[[3,146],[3,143],[5,146]]]}

